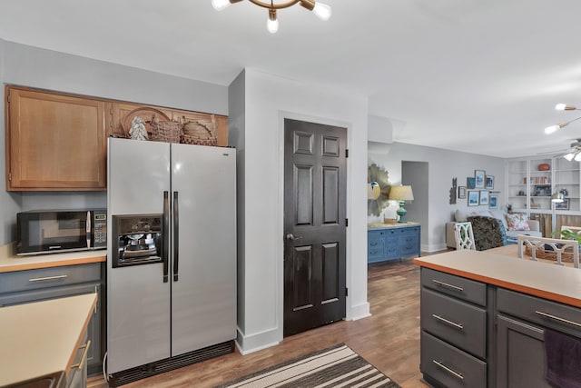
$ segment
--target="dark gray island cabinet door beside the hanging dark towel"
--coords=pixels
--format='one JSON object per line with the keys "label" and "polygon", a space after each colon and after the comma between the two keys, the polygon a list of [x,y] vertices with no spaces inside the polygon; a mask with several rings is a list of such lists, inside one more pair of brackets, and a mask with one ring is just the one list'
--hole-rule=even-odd
{"label": "dark gray island cabinet door beside the hanging dark towel", "polygon": [[550,387],[543,329],[503,315],[497,323],[497,387]]}

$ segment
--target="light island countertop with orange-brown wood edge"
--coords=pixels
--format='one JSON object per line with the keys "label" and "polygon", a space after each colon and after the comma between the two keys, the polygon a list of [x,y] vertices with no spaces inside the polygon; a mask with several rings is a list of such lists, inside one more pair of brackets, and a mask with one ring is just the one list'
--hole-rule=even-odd
{"label": "light island countertop with orange-brown wood edge", "polygon": [[459,250],[414,259],[448,274],[581,307],[581,269],[486,251]]}

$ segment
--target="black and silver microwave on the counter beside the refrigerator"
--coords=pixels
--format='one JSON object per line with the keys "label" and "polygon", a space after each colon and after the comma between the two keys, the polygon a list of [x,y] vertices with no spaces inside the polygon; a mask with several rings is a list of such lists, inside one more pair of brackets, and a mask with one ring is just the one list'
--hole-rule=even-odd
{"label": "black and silver microwave on the counter beside the refrigerator", "polygon": [[16,254],[53,254],[107,247],[107,211],[43,210],[16,214]]}

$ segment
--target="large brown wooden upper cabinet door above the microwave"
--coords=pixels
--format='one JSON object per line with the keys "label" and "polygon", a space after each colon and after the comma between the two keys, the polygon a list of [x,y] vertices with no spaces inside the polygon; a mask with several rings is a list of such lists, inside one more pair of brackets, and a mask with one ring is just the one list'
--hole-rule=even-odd
{"label": "large brown wooden upper cabinet door above the microwave", "polygon": [[6,189],[104,190],[105,103],[6,87]]}

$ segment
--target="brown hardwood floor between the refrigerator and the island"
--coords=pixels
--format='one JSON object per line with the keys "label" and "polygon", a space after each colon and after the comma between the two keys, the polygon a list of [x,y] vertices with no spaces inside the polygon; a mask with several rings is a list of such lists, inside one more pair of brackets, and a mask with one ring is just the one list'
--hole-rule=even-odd
{"label": "brown hardwood floor between the refrigerator and the island", "polygon": [[[242,356],[236,351],[123,387],[212,387],[335,343],[347,343],[403,388],[427,387],[419,381],[419,267],[412,259],[371,264],[368,280],[368,318],[331,323],[259,352]],[[107,384],[103,376],[94,376],[88,386]]]}

